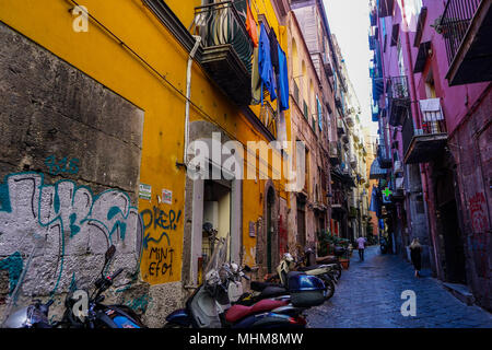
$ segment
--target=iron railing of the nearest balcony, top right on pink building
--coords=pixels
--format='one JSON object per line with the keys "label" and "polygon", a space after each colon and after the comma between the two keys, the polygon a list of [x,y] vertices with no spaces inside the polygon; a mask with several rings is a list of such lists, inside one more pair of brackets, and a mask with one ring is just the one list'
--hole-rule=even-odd
{"label": "iron railing of the nearest balcony, top right on pink building", "polygon": [[481,0],[448,0],[440,31],[446,42],[447,59],[453,62]]}

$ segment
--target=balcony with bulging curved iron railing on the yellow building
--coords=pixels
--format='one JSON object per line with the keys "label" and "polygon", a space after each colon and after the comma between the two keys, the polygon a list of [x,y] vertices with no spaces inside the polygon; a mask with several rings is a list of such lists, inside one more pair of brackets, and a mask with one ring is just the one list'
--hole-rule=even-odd
{"label": "balcony with bulging curved iron railing on the yellow building", "polygon": [[191,33],[201,37],[201,66],[236,105],[251,101],[253,43],[231,1],[195,9]]}

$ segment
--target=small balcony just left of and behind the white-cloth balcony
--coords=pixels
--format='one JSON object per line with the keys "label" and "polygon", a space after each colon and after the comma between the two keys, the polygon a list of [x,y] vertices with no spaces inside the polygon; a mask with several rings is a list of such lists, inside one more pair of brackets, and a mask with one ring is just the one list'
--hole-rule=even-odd
{"label": "small balcony just left of and behind the white-cloth balcony", "polygon": [[410,108],[410,91],[406,75],[389,78],[386,84],[389,103],[389,125],[400,126]]}

